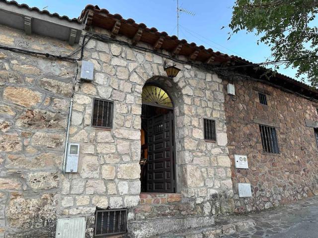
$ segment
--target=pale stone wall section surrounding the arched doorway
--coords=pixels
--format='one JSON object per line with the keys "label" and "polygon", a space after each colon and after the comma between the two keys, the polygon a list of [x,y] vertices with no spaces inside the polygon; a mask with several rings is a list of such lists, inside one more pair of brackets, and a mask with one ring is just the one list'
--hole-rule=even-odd
{"label": "pale stone wall section surrounding the arched doorway", "polygon": [[[95,30],[109,35],[107,31]],[[117,39],[129,41],[126,38]],[[219,191],[231,196],[232,181],[226,147],[221,79],[202,69],[177,63],[181,71],[171,81],[160,76],[165,75],[164,59],[151,52],[95,40],[91,40],[87,48],[85,59],[95,64],[95,81],[82,84],[80,92],[76,93],[76,100],[87,98],[87,101],[84,100],[82,106],[85,108],[78,112],[83,120],[73,126],[78,131],[73,133],[75,139],[72,140],[85,142],[81,147],[90,146],[91,149],[82,151],[84,159],[79,176],[87,181],[105,179],[106,194],[107,186],[113,184],[111,188],[114,190],[107,197],[111,207],[138,204],[141,93],[145,83],[156,83],[170,93],[175,104],[177,191],[187,197],[202,199]],[[90,126],[90,99],[93,97],[114,101],[114,124],[111,131]],[[81,114],[83,111],[85,113]],[[203,118],[216,119],[217,143],[204,141]],[[76,136],[78,133],[84,136]],[[94,134],[95,140],[86,137],[86,134],[91,137],[89,133]],[[95,162],[86,163],[86,157],[88,161],[95,158]],[[96,175],[98,168],[100,177]],[[104,191],[104,188],[101,189]]]}

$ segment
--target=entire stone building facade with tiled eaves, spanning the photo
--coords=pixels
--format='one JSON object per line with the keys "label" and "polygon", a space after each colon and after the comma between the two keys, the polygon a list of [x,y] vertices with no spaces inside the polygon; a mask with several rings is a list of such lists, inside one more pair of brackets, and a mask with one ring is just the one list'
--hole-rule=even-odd
{"label": "entire stone building facade with tiled eaves, spanning the photo", "polygon": [[[0,1],[0,13],[0,237],[51,238],[60,219],[82,217],[91,238],[96,211],[127,208],[121,236],[148,238],[317,195],[317,91],[285,77],[269,85],[227,68],[242,59],[98,6],[69,19]],[[93,64],[92,81],[80,79],[83,61]],[[166,63],[180,69],[176,77]],[[172,112],[173,192],[141,189],[145,86],[172,101],[160,110]],[[96,99],[113,105],[109,128],[92,124]],[[262,153],[260,123],[276,127],[280,155]],[[64,172],[67,138],[79,143],[77,173]],[[235,154],[247,155],[248,170],[235,168]],[[251,198],[239,198],[238,183],[251,184]]]}

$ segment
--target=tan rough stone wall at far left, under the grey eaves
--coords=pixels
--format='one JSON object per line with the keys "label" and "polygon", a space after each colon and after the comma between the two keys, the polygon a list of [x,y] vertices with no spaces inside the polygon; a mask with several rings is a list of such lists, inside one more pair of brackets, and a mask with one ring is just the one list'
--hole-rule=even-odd
{"label": "tan rough stone wall at far left, under the grey eaves", "polygon": [[[0,44],[61,55],[76,48],[1,25]],[[54,237],[75,66],[0,50],[0,237]]]}

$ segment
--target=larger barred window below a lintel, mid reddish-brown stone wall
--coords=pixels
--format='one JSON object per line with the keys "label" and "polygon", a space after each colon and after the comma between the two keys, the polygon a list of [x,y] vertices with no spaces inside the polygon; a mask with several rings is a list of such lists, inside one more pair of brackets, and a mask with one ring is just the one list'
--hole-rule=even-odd
{"label": "larger barred window below a lintel, mid reddish-brown stone wall", "polygon": [[262,138],[263,152],[279,154],[280,152],[275,127],[259,125],[259,131]]}

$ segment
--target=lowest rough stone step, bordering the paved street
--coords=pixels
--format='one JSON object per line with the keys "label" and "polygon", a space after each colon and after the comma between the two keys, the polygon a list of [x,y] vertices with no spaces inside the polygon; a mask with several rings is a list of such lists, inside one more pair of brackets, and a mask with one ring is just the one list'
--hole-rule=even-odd
{"label": "lowest rough stone step, bordering the paved street", "polygon": [[201,227],[197,229],[184,229],[178,232],[165,233],[151,238],[220,238],[233,235],[239,231],[256,226],[251,219],[238,219],[229,216],[215,221],[214,226]]}

